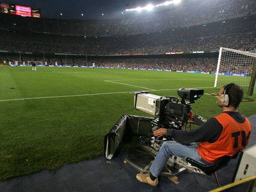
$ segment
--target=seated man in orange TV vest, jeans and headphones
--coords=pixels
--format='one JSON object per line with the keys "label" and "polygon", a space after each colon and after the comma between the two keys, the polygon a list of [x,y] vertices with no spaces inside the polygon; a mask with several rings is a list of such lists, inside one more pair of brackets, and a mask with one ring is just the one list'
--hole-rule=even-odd
{"label": "seated man in orange TV vest, jeans and headphones", "polygon": [[[154,131],[156,137],[172,137],[175,141],[165,141],[150,166],[150,173],[139,173],[137,180],[149,185],[158,185],[158,176],[170,156],[189,157],[204,165],[216,162],[222,156],[233,156],[245,148],[252,125],[237,111],[243,98],[242,88],[230,83],[218,93],[218,106],[222,113],[208,119],[192,131],[160,128]],[[198,144],[190,144],[198,142]],[[190,144],[190,145],[188,145]]]}

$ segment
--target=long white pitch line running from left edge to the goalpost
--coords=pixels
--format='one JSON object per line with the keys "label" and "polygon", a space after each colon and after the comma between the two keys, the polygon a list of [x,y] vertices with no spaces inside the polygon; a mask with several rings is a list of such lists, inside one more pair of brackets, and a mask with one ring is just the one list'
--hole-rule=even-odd
{"label": "long white pitch line running from left edge to the goalpost", "polygon": [[[197,88],[197,89],[203,89],[203,88],[215,88],[215,87],[209,86],[209,87],[201,87],[201,88]],[[167,89],[167,90],[151,90],[151,91],[169,91],[169,90],[178,90],[178,89],[179,88]],[[39,97],[39,98],[5,99],[5,100],[0,100],[0,102],[23,101],[23,100],[32,100],[32,99],[72,98],[72,97],[81,97],[81,96],[94,96],[94,95],[105,95],[105,94],[124,94],[124,93],[130,93],[130,92],[123,91],[123,92],[113,92],[113,93],[92,93],[92,94],[74,94],[74,95],[64,95],[64,96],[48,96],[48,97]]]}

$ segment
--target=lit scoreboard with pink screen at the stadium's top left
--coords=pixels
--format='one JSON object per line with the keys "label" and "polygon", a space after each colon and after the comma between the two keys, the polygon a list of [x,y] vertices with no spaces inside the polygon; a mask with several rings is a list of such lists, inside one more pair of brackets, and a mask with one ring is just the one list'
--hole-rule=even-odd
{"label": "lit scoreboard with pink screen at the stadium's top left", "polygon": [[41,17],[41,9],[35,7],[20,6],[8,2],[0,2],[0,13],[19,15],[22,17]]}

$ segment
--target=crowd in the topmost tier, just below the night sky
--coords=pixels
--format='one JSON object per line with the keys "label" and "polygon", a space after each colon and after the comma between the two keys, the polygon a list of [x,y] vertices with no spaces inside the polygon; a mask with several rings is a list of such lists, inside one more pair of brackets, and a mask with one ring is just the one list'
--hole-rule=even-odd
{"label": "crowd in the topmost tier, just below the night sky", "polygon": [[122,19],[33,19],[2,15],[0,28],[61,35],[111,36],[152,33],[244,17],[256,13],[254,0],[187,0],[152,12],[132,12]]}

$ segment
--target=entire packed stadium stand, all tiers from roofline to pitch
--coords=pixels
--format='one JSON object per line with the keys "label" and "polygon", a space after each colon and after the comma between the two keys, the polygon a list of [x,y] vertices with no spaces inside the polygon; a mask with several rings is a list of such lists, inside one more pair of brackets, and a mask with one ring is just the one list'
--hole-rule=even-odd
{"label": "entire packed stadium stand, all tiers from roofline to pitch", "polygon": [[[48,65],[95,62],[108,67],[209,72],[215,70],[217,58],[205,56],[205,52],[218,52],[220,47],[245,51],[256,47],[256,2],[251,0],[186,1],[150,14],[125,14],[119,20],[36,19],[0,14],[0,21],[0,50],[4,52],[0,52],[1,62],[33,60]],[[200,59],[156,61],[154,57],[173,52],[179,52],[181,57],[204,54],[200,54],[203,57]]]}

